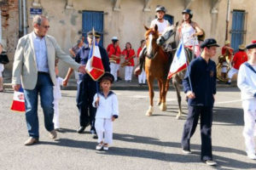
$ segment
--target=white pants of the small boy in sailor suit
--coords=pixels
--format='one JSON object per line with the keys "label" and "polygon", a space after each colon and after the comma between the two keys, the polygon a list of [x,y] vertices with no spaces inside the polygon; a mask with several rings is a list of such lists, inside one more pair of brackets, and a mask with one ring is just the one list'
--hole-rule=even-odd
{"label": "white pants of the small boy in sailor suit", "polygon": [[[96,133],[98,135],[98,143],[102,141],[106,144],[112,144],[113,141],[113,122],[111,119],[96,118]],[[104,138],[103,138],[104,133]]]}

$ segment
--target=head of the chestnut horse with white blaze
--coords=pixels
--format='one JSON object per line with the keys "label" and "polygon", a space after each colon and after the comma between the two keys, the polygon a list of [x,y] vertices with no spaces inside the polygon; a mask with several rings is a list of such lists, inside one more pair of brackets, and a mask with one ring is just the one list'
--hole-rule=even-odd
{"label": "head of the chestnut horse with white blaze", "polygon": [[147,47],[147,57],[148,59],[154,59],[157,54],[158,45],[156,43],[158,34],[158,26],[155,25],[153,28],[148,28],[144,26],[146,29],[145,37],[146,37],[146,47]]}

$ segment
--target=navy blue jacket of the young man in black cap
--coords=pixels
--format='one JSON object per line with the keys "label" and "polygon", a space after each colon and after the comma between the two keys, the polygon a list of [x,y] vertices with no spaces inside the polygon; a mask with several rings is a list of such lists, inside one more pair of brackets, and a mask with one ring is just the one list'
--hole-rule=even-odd
{"label": "navy blue jacket of the young man in black cap", "polygon": [[183,79],[184,92],[192,91],[190,88],[189,77],[195,99],[189,99],[189,105],[212,106],[214,104],[213,94],[216,94],[216,64],[209,59],[198,57],[193,59],[187,69]]}

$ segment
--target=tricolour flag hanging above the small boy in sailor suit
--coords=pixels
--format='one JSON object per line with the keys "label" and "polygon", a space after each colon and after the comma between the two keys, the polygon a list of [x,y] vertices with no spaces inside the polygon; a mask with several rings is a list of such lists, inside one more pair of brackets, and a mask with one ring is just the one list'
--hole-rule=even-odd
{"label": "tricolour flag hanging above the small boy in sailor suit", "polygon": [[97,81],[105,73],[104,67],[102,65],[100,48],[95,40],[95,37],[93,37],[92,40],[89,59],[85,66],[85,70],[94,81]]}

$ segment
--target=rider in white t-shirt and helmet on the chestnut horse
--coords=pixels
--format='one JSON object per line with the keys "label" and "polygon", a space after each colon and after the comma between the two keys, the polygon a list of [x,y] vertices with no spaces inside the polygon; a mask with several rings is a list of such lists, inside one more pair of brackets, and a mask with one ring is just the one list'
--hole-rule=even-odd
{"label": "rider in white t-shirt and helmet on the chestnut horse", "polygon": [[[161,35],[165,30],[166,27],[171,26],[168,20],[164,19],[166,14],[166,8],[164,6],[157,6],[155,8],[157,18],[151,21],[150,28],[153,28],[155,25],[158,26],[159,35]],[[135,74],[140,75],[143,71],[143,65],[145,62],[145,55],[146,55],[147,48],[144,47],[142,52],[139,54],[139,66],[135,69]]]}

